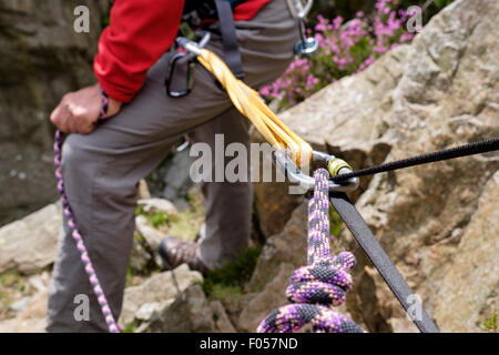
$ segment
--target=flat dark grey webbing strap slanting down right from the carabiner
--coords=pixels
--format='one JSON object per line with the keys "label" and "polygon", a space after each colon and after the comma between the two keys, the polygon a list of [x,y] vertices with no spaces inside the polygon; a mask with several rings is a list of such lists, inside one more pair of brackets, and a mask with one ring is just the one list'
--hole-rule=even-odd
{"label": "flat dark grey webbing strap slanting down right from the carabiner", "polygon": [[409,285],[383,250],[378,240],[374,236],[347,195],[343,192],[332,192],[329,200],[404,310],[411,315],[413,322],[419,331],[421,333],[438,333],[437,325],[431,321],[422,305],[419,304],[418,297],[414,296]]}

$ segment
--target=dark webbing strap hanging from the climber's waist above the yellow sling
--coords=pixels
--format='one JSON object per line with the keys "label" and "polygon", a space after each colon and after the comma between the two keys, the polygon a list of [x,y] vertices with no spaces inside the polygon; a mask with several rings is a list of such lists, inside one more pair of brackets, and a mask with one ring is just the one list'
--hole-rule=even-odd
{"label": "dark webbing strap hanging from the climber's waist above the yellow sling", "polygon": [[243,79],[244,70],[231,3],[227,0],[215,0],[215,6],[224,43],[225,63],[237,79]]}

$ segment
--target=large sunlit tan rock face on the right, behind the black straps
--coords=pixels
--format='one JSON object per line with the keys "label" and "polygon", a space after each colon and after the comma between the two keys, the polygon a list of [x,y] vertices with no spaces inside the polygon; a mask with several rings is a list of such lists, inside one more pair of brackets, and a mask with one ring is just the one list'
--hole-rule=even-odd
{"label": "large sunlit tan rock face on the right, behind the black straps", "polygon": [[[455,1],[413,44],[281,118],[355,169],[498,136],[498,19],[495,0]],[[481,331],[498,307],[498,169],[497,153],[473,155],[364,178],[354,195],[441,331]],[[284,250],[299,245],[305,232],[286,240]],[[354,320],[371,332],[414,331],[349,232],[333,246],[354,251],[359,262],[347,296]]]}

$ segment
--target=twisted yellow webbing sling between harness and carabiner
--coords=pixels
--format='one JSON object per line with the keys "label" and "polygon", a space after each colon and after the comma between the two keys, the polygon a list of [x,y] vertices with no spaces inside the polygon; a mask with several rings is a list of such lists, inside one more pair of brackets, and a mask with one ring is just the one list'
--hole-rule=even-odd
{"label": "twisted yellow webbing sling between harness and carabiner", "polygon": [[197,60],[222,83],[236,109],[252,121],[275,149],[287,149],[297,166],[312,160],[312,146],[289,130],[262,101],[258,92],[235,78],[222,59],[202,49]]}

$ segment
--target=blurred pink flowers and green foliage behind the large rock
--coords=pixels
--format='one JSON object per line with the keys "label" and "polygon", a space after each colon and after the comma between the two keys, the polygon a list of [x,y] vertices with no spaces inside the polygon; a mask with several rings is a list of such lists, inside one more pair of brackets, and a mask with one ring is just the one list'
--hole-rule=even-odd
{"label": "blurred pink flowers and green foliage behind the large rock", "polygon": [[319,43],[309,58],[296,59],[261,94],[273,101],[275,110],[288,109],[326,85],[363,71],[385,52],[410,43],[417,34],[408,29],[414,13],[421,8],[421,26],[452,0],[439,1],[335,1],[315,0],[307,17],[308,36]]}

